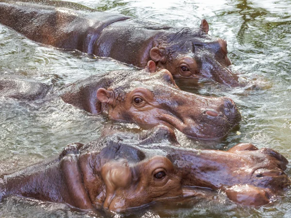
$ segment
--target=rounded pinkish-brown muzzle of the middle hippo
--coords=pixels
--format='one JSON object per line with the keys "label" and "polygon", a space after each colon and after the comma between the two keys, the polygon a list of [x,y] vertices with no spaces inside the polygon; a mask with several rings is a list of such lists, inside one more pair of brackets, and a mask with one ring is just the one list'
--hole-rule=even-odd
{"label": "rounded pinkish-brown muzzle of the middle hippo", "polygon": [[[189,137],[218,139],[224,137],[241,120],[241,115],[230,98],[192,96],[192,99],[189,97],[185,100],[172,113],[172,117],[180,119],[171,120],[171,117],[168,122]],[[165,115],[166,118],[168,116]]]}

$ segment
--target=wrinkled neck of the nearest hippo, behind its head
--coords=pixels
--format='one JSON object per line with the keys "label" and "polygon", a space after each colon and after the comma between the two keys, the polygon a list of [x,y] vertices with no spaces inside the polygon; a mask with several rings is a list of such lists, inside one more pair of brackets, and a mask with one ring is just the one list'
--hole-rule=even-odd
{"label": "wrinkled neck of the nearest hippo, behind its head", "polygon": [[66,202],[81,209],[93,208],[83,185],[76,154],[43,161],[2,177],[0,200],[6,195],[20,195],[42,201]]}

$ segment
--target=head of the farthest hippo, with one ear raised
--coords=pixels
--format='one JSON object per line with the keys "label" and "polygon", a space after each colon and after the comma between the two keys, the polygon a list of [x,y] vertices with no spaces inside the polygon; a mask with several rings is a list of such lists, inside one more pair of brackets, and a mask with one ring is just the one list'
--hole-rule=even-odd
{"label": "head of the farthest hippo, with one ear raised", "polygon": [[238,76],[229,68],[226,41],[208,35],[209,25],[175,31],[150,50],[151,60],[159,69],[169,70],[175,79],[197,81],[209,78],[227,86],[239,86]]}

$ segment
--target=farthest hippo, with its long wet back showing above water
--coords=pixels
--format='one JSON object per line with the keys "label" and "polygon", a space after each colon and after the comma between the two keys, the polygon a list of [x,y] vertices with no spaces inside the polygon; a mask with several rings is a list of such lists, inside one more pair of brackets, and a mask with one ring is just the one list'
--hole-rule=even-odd
{"label": "farthest hippo, with its long wet back showing above water", "polygon": [[152,60],[180,81],[208,78],[226,86],[242,85],[229,67],[226,41],[208,34],[205,19],[196,29],[173,27],[73,2],[23,1],[0,0],[0,23],[35,42],[141,68]]}

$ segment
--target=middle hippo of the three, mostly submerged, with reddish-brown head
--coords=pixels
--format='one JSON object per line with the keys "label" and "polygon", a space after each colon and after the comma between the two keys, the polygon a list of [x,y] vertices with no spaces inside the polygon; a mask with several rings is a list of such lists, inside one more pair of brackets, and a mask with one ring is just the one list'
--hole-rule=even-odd
{"label": "middle hippo of the three, mostly submerged, with reddish-brown head", "polygon": [[[29,81],[21,80],[22,87]],[[0,78],[0,96],[19,89],[14,79]],[[20,86],[20,85],[19,85]],[[20,89],[22,96],[26,90]],[[151,127],[164,124],[189,137],[224,137],[241,120],[235,103],[227,97],[205,97],[180,90],[171,73],[149,61],[144,70],[118,70],[66,85],[52,91],[66,103],[109,119]],[[19,94],[17,94],[19,95]]]}

